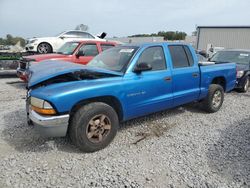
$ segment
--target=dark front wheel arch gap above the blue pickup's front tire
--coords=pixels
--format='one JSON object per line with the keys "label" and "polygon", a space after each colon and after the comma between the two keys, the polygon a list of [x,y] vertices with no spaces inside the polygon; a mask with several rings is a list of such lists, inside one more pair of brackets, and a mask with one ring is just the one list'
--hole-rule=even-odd
{"label": "dark front wheel arch gap above the blue pickup's front tire", "polygon": [[119,121],[123,120],[122,104],[117,97],[114,97],[111,95],[88,98],[88,99],[84,99],[84,100],[77,102],[70,110],[70,113],[69,113],[70,117],[83,105],[89,104],[91,102],[103,102],[103,103],[111,106],[116,111]]}

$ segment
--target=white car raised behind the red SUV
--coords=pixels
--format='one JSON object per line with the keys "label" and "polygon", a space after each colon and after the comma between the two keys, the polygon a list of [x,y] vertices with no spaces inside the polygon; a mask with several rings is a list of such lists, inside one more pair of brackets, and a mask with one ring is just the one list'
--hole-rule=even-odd
{"label": "white car raised behind the red SUV", "polygon": [[64,31],[55,37],[31,38],[27,40],[25,50],[27,52],[38,52],[41,54],[56,52],[64,43],[75,40],[104,40],[106,33],[100,37],[93,36],[85,31]]}

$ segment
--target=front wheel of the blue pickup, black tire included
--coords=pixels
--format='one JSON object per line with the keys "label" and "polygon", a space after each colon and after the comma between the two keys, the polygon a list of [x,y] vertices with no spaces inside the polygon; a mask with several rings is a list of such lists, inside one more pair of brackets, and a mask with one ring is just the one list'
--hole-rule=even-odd
{"label": "front wheel of the blue pickup, black tire included", "polygon": [[[95,136],[98,133],[92,135],[93,132],[98,132],[99,128],[96,128],[96,121],[100,121],[101,117],[105,116],[105,121],[109,122],[111,128],[104,129],[101,137],[102,140],[99,141],[99,136]],[[95,121],[94,118],[98,117]],[[96,130],[91,130],[93,127],[90,122],[95,124]],[[104,122],[104,120],[103,120]],[[108,123],[107,123],[108,124]],[[106,125],[105,125],[106,126]],[[72,142],[84,152],[95,152],[108,146],[114,139],[119,126],[119,120],[115,110],[102,102],[93,102],[84,105],[79,110],[73,114],[69,125],[69,136]],[[98,130],[97,130],[98,129]],[[103,130],[101,130],[102,132]],[[88,138],[92,135],[92,138]]]}

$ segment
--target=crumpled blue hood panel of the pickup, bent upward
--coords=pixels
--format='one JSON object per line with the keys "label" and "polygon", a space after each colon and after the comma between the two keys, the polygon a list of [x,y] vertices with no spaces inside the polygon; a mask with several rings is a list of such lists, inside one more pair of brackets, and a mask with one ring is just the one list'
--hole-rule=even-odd
{"label": "crumpled blue hood panel of the pickup, bent upward", "polygon": [[42,61],[39,64],[34,64],[30,66],[30,75],[29,75],[29,82],[28,88],[39,84],[43,81],[46,81],[50,78],[64,75],[67,73],[72,73],[76,71],[88,71],[88,72],[98,72],[104,73],[114,76],[122,76],[122,73],[110,71],[106,69],[99,69],[95,67],[89,67],[86,65],[66,62],[66,61],[57,61],[57,60],[47,60]]}

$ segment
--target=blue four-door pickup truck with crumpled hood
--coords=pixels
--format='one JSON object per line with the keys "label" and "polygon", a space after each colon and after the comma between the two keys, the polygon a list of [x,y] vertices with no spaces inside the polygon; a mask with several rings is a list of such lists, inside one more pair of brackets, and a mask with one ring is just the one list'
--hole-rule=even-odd
{"label": "blue four-door pickup truck with crumpled hood", "polygon": [[31,67],[28,120],[42,135],[68,134],[82,151],[94,152],[113,140],[122,121],[193,101],[218,111],[235,81],[234,63],[199,63],[186,44],[122,45],[88,65]]}

